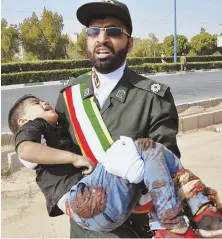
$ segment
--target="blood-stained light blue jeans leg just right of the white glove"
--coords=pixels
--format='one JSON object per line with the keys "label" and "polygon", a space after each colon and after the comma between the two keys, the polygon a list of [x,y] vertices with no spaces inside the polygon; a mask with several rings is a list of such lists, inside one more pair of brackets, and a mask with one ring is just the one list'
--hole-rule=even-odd
{"label": "blood-stained light blue jeans leg just right of the white glove", "polygon": [[[139,153],[144,160],[144,183],[150,192],[155,213],[151,213],[151,230],[165,229],[161,223],[172,215],[180,220],[180,223],[170,225],[170,229],[186,227],[183,216],[178,216],[181,211],[179,199],[176,195],[171,175],[182,169],[181,162],[173,153],[162,144],[155,143],[154,148]],[[169,226],[169,225],[168,225]]]}

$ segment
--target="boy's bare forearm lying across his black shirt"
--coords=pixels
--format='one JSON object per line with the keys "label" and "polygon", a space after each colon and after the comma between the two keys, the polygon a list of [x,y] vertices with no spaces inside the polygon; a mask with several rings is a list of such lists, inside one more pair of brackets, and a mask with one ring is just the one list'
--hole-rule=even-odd
{"label": "boy's bare forearm lying across his black shirt", "polygon": [[30,141],[21,143],[17,152],[21,159],[37,164],[68,164],[78,158],[77,154]]}

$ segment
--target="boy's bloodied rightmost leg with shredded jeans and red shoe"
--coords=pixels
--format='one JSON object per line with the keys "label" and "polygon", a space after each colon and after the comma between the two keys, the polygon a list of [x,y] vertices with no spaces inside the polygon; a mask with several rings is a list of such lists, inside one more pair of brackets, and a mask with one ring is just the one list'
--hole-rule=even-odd
{"label": "boy's bloodied rightmost leg with shredded jeans and red shoe", "polygon": [[[180,159],[165,146],[162,147],[165,148],[165,160],[170,173],[174,175],[174,181],[177,181],[177,195],[181,202],[185,199],[186,215],[194,222],[192,226],[200,229],[204,237],[222,236],[222,213],[217,210],[222,209],[222,205],[217,192],[213,189],[208,190],[200,178],[183,169]],[[212,207],[213,202],[216,207]]]}

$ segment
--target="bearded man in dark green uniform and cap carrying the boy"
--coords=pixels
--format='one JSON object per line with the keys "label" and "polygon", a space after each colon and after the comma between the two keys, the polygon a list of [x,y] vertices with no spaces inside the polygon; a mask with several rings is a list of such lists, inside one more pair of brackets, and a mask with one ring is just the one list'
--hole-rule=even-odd
{"label": "bearded man in dark green uniform and cap carrying the boy", "polygon": [[[178,114],[170,88],[138,75],[126,64],[126,55],[133,46],[127,6],[114,0],[91,2],[77,10],[77,18],[87,27],[87,51],[93,69],[89,74],[69,80],[56,105],[59,123],[71,138],[74,152],[90,157],[87,152],[94,150],[84,145],[91,134],[81,131],[81,127],[85,127],[82,111],[79,115],[76,112],[78,102],[86,110],[88,103],[85,102],[92,98],[104,123],[101,128],[107,128],[112,140],[121,135],[133,140],[150,137],[180,157],[176,142]],[[78,86],[82,92],[80,97],[75,91]],[[87,116],[86,124],[88,121],[93,124],[91,114]],[[149,217],[142,213],[148,208],[143,209],[146,210],[138,208],[112,233],[90,232],[71,222],[71,237],[150,237]]]}

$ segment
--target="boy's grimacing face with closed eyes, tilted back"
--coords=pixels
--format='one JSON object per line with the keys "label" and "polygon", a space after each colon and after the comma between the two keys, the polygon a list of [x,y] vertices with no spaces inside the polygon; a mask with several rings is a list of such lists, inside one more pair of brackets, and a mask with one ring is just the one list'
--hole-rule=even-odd
{"label": "boy's grimacing face with closed eyes, tilted back", "polygon": [[49,124],[55,125],[58,115],[47,102],[37,98],[29,98],[24,102],[24,114],[19,118],[18,124],[22,126],[29,120],[36,118],[42,118]]}

